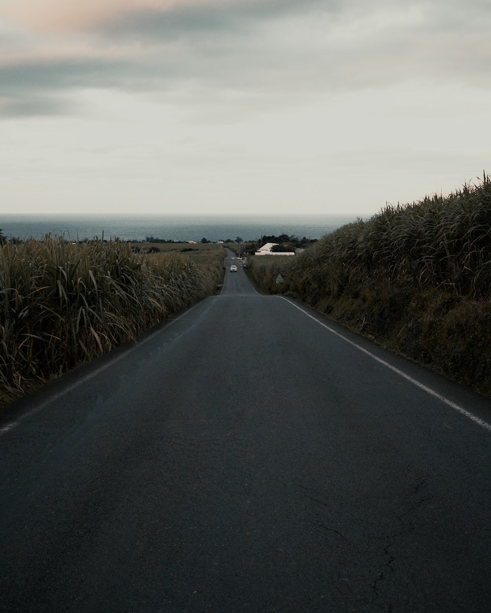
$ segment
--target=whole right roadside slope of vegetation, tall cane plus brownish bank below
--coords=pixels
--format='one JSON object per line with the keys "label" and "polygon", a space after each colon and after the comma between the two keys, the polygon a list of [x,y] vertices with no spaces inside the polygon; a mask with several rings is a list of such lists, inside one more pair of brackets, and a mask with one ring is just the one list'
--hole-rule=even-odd
{"label": "whole right roadside slope of vegetation, tall cane plus brownish bank below", "polygon": [[[281,273],[284,283],[276,284]],[[491,181],[387,205],[296,257],[250,257],[282,293],[491,395]]]}

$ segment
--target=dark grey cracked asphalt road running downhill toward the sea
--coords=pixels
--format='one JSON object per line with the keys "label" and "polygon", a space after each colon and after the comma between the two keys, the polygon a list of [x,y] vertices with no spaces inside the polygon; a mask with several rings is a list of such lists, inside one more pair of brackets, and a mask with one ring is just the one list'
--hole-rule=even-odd
{"label": "dark grey cracked asphalt road running downhill toward the sea", "polygon": [[227,270],[4,418],[0,611],[488,612],[490,421]]}

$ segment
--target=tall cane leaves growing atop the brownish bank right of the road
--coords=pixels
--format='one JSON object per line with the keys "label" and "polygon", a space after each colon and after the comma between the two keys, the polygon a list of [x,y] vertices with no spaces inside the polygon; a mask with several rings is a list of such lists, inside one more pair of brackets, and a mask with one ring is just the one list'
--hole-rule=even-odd
{"label": "tall cane leaves growing atop the brownish bank right of the road", "polygon": [[339,294],[347,283],[388,281],[491,298],[491,181],[449,196],[387,205],[323,237],[295,259],[298,280]]}

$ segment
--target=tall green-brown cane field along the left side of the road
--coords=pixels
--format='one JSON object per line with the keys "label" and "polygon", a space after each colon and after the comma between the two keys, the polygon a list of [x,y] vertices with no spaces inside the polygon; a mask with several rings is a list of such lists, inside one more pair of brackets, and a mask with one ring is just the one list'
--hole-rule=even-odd
{"label": "tall green-brown cane field along the left side of the road", "polygon": [[[210,246],[211,247],[211,246]],[[0,396],[10,400],[211,295],[220,246],[140,254],[46,236],[0,248]]]}

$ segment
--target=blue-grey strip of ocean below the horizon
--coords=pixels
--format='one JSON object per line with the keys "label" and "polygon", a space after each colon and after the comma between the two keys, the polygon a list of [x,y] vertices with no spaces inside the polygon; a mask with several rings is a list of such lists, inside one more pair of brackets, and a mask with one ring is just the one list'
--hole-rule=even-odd
{"label": "blue-grey strip of ocean below the horizon", "polygon": [[298,238],[320,238],[356,215],[80,215],[55,213],[34,215],[0,213],[0,228],[6,237],[26,240],[45,234],[67,240],[114,238],[145,240],[258,240],[264,235],[288,234]]}

